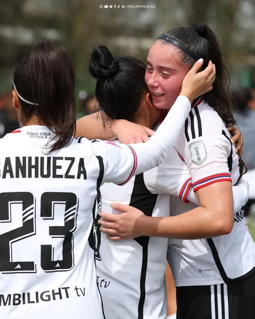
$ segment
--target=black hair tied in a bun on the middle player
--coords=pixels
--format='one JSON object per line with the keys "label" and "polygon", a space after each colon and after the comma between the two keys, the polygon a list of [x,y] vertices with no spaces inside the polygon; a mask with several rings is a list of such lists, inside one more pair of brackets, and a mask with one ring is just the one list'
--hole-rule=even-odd
{"label": "black hair tied in a bun on the middle player", "polygon": [[91,51],[89,71],[96,82],[96,98],[104,126],[109,120],[135,122],[145,84],[146,65],[133,56],[114,58],[105,46]]}

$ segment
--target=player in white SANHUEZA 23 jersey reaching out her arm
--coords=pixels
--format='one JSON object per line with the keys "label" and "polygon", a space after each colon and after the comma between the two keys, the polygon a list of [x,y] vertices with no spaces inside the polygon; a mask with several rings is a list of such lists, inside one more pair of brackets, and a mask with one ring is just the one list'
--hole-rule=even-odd
{"label": "player in white SANHUEZA 23 jersey reaching out her arm", "polygon": [[0,141],[1,317],[104,318],[90,236],[98,189],[159,165],[189,100],[211,88],[213,65],[196,74],[200,66],[170,112],[176,121],[167,117],[151,142],[131,146],[73,138],[74,71],[64,48],[42,42],[21,61],[13,106],[22,128]]}

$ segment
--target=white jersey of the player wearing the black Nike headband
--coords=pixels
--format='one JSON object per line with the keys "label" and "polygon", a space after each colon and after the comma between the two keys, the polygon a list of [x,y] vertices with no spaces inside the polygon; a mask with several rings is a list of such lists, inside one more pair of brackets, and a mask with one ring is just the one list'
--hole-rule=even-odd
{"label": "white jersey of the player wearing the black Nike headband", "polygon": [[[175,148],[190,171],[193,190],[215,182],[239,178],[238,156],[219,115],[204,100],[197,99],[186,119]],[[171,197],[171,215],[197,207]],[[170,239],[168,260],[176,286],[217,285],[241,280],[254,271],[255,244],[235,211],[230,234],[202,240]]]}

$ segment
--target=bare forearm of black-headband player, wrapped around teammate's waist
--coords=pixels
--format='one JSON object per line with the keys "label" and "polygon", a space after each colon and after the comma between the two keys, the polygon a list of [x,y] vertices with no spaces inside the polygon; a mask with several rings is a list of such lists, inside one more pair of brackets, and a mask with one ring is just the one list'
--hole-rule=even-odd
{"label": "bare forearm of black-headband player, wrapped around teammate's waist", "polygon": [[202,239],[229,233],[224,231],[221,219],[212,218],[213,214],[203,207],[171,217],[144,217],[142,229],[145,236]]}

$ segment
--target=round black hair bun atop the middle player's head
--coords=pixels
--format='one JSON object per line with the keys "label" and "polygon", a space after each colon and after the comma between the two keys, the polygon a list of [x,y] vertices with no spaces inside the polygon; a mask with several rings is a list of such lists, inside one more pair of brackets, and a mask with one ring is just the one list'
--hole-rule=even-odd
{"label": "round black hair bun atop the middle player's head", "polygon": [[112,77],[119,70],[119,61],[103,45],[96,46],[91,51],[89,71],[93,78],[104,79]]}

